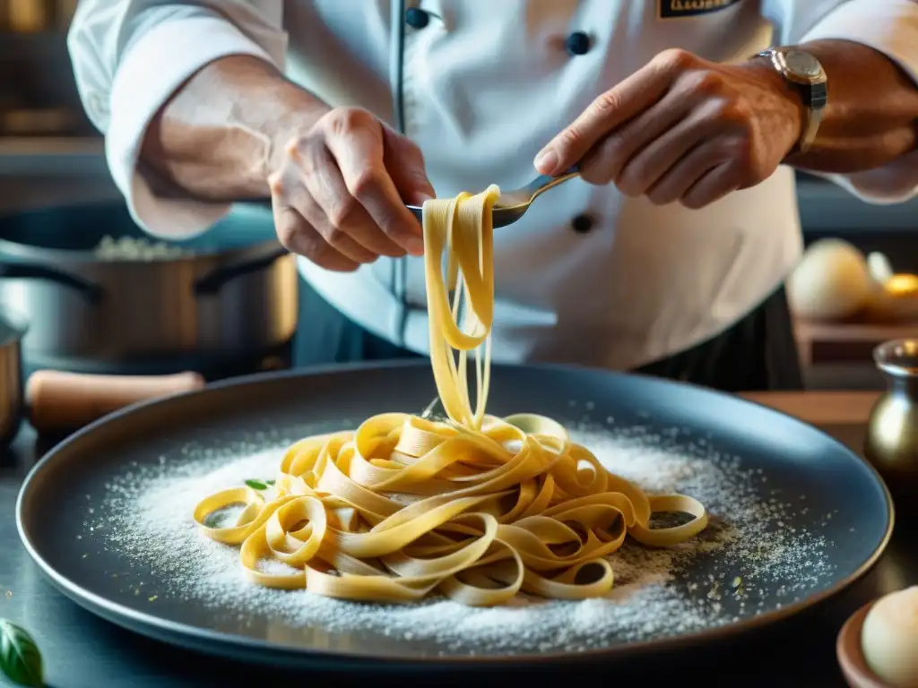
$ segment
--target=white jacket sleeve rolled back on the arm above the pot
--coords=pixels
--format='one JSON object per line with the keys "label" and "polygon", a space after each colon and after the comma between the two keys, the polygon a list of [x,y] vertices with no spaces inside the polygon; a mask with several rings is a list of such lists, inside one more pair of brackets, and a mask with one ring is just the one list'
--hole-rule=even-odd
{"label": "white jacket sleeve rolled back on the arm above the pot", "polygon": [[162,181],[138,164],[152,117],[175,90],[209,62],[251,55],[283,69],[286,37],[282,0],[176,3],[83,0],[67,43],[81,100],[105,134],[112,178],[134,220],[154,236],[185,239],[229,212],[177,189],[157,194]]}

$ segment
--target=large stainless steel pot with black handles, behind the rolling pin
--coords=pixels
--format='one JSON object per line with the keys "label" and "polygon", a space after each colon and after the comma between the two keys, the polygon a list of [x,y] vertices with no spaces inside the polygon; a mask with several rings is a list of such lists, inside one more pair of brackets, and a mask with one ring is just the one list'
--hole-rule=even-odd
{"label": "large stainless steel pot with black handles, behind the rolling pin", "polygon": [[106,240],[147,240],[124,205],[0,218],[0,304],[28,315],[24,355],[130,362],[245,354],[293,337],[294,258],[269,209],[241,206],[175,257],[104,256]]}

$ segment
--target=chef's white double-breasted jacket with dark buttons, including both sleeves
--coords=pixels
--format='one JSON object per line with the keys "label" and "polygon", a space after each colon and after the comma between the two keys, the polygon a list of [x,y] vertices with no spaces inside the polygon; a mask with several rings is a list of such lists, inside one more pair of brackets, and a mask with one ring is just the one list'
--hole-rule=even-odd
{"label": "chef's white double-breasted jacket with dark buttons, including both sleeves", "polygon": [[[229,211],[157,195],[137,161],[143,132],[169,95],[230,54],[272,61],[330,105],[363,106],[401,124],[423,150],[439,196],[528,182],[534,154],[556,132],[667,48],[730,61],[769,45],[850,39],[918,78],[914,0],[407,5],[427,13],[426,26],[407,26],[396,0],[83,0],[69,36],[76,82],[135,219],[153,235],[178,238]],[[588,36],[585,54],[565,51],[576,31]],[[903,201],[918,192],[918,152],[834,180],[867,201]],[[628,369],[685,350],[778,287],[799,259],[799,224],[787,167],[701,210],[565,183],[495,232],[494,358]],[[299,265],[361,326],[428,350],[420,259],[381,258],[353,273]]]}

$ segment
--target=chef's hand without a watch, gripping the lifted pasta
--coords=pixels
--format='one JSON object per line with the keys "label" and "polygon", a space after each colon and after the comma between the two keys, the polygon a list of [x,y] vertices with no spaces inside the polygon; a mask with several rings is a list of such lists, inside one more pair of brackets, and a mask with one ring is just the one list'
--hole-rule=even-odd
{"label": "chef's hand without a watch, gripping the lifted pasta", "polygon": [[268,183],[281,243],[323,268],[424,252],[405,207],[433,196],[423,156],[366,110],[332,109],[291,139]]}

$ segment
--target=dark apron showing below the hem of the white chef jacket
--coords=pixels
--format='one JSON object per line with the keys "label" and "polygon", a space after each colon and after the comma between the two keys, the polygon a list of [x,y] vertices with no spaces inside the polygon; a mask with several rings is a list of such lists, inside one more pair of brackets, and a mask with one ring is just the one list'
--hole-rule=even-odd
{"label": "dark apron showing below the hem of the white chef jacket", "polygon": [[[300,289],[299,322],[301,327],[294,343],[297,367],[418,357],[341,315],[307,283]],[[803,389],[784,287],[720,335],[634,372],[725,392]]]}

